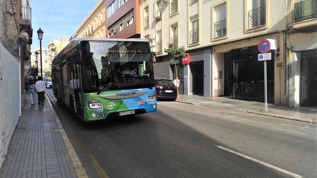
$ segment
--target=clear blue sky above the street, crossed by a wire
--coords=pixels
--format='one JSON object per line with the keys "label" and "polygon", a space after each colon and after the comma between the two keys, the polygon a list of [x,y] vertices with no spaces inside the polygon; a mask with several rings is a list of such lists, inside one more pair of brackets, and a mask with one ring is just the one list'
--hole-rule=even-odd
{"label": "clear blue sky above the street, crossed by a wire", "polygon": [[[31,52],[40,46],[36,31],[43,30],[42,48],[58,38],[70,38],[99,0],[31,0],[33,42]],[[49,12],[49,15],[48,15]],[[47,21],[45,24],[45,20]],[[45,24],[45,26],[44,26]]]}

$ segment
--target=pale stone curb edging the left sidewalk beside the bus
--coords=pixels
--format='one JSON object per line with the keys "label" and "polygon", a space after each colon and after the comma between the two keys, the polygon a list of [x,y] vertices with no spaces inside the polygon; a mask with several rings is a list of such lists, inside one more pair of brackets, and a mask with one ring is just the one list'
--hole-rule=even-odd
{"label": "pale stone curb edging the left sidewalk beside the bus", "polygon": [[55,118],[55,121],[56,121],[56,124],[57,124],[57,128],[59,130],[59,132],[61,133],[61,137],[63,138],[63,141],[64,141],[64,144],[66,146],[66,149],[67,149],[67,152],[68,152],[68,155],[73,163],[73,166],[74,166],[74,169],[75,169],[75,172],[76,172],[76,175],[78,178],[88,178],[87,174],[86,174],[86,171],[85,169],[82,167],[81,165],[81,162],[74,150],[74,147],[73,145],[70,143],[67,135],[66,135],[66,132],[65,130],[63,129],[63,126],[61,125],[61,121],[59,120],[54,108],[53,108],[53,105],[50,101],[50,95],[47,91],[45,91],[45,99],[47,100],[48,104],[49,104],[49,107],[51,108],[51,111],[52,111],[52,114]]}

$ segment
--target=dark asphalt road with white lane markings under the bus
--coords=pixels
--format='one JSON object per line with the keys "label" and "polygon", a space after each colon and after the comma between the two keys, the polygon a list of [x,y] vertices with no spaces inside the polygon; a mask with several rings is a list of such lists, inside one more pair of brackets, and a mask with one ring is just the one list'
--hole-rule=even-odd
{"label": "dark asphalt road with white lane markings under the bus", "polygon": [[315,124],[168,101],[86,123],[48,92],[89,177],[317,176]]}

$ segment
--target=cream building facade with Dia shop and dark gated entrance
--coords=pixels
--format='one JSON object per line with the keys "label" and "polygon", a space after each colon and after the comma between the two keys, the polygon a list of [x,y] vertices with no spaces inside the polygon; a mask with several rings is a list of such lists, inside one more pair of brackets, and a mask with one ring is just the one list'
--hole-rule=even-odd
{"label": "cream building facade with Dia shop and dark gated entrance", "polygon": [[[146,0],[141,1],[141,38],[157,53],[155,77],[172,79],[177,70],[180,93],[253,101],[264,101],[264,68],[257,46],[273,39],[276,46],[268,51],[267,61],[268,102],[287,106],[284,44],[293,12],[284,1],[273,0]],[[185,46],[190,63],[170,64],[164,52],[168,43]]]}

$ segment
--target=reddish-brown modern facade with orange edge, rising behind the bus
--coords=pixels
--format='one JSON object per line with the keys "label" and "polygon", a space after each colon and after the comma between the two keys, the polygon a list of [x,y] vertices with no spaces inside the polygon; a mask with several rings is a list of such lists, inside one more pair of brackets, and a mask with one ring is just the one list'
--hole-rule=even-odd
{"label": "reddish-brown modern facade with orange edge, rising behind the bus", "polygon": [[106,0],[107,37],[140,38],[140,1]]}

